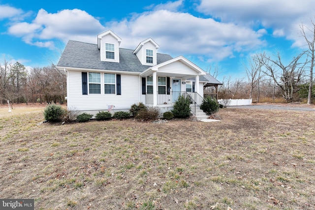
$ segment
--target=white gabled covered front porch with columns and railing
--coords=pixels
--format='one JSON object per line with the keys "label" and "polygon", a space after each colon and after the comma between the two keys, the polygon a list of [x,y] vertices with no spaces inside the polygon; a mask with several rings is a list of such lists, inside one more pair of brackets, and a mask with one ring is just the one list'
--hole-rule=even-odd
{"label": "white gabled covered front porch with columns and railing", "polygon": [[198,105],[203,99],[203,81],[206,75],[198,66],[180,56],[148,68],[140,74],[145,104],[173,105],[180,95]]}

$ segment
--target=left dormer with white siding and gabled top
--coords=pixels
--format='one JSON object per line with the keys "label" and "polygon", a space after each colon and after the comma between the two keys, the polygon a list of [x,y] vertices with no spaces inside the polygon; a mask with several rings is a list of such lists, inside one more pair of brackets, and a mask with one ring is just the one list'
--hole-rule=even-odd
{"label": "left dormer with white siding and gabled top", "polygon": [[97,48],[100,50],[100,60],[119,62],[119,46],[122,39],[111,30],[97,35]]}

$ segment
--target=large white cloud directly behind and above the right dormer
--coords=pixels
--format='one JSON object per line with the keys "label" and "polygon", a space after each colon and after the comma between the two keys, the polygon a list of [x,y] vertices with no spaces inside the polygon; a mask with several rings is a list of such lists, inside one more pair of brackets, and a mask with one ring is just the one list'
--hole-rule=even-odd
{"label": "large white cloud directly behind and above the right dormer", "polygon": [[134,49],[140,41],[152,37],[161,51],[175,56],[195,54],[222,60],[232,57],[233,52],[264,44],[260,40],[262,30],[256,32],[244,26],[168,10],[145,12],[130,21],[112,22],[107,27],[122,37],[123,47]]}

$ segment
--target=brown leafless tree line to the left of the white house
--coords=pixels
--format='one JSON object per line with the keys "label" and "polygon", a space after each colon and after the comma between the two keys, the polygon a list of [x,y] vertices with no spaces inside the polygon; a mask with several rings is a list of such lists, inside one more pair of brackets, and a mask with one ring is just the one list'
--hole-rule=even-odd
{"label": "brown leafless tree line to the left of the white house", "polygon": [[54,64],[26,69],[5,58],[0,63],[0,102],[7,103],[64,103],[66,73]]}

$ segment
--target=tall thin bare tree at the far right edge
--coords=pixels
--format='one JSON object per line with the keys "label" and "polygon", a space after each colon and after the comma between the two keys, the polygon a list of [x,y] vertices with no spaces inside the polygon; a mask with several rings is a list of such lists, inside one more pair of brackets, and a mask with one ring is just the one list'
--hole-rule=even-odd
{"label": "tall thin bare tree at the far right edge", "polygon": [[312,28],[307,27],[303,23],[300,25],[301,34],[305,38],[305,41],[308,46],[307,56],[310,58],[311,66],[310,66],[310,84],[309,84],[309,94],[307,99],[307,104],[311,104],[312,98],[312,88],[313,88],[313,68],[314,68],[314,60],[315,60],[315,23],[311,19]]}

